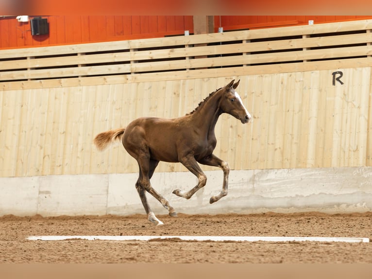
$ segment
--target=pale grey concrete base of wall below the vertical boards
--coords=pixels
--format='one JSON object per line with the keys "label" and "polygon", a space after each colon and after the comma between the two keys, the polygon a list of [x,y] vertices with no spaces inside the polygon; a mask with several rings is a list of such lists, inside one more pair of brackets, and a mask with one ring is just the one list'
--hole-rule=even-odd
{"label": "pale grey concrete base of wall below the vertical boards", "polygon": [[[372,209],[372,167],[231,171],[229,193],[209,204],[222,187],[222,171],[205,172],[207,185],[189,200],[172,194],[189,190],[197,178],[187,172],[155,173],[152,186],[177,212],[186,214],[366,212]],[[138,174],[79,174],[0,178],[0,216],[144,214],[135,182]],[[168,214],[147,195],[155,214]]]}

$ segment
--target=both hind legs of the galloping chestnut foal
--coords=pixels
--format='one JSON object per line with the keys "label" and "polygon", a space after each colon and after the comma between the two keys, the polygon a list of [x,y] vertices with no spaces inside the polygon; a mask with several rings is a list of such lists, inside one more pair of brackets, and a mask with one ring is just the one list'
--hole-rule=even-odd
{"label": "both hind legs of the galloping chestnut foal", "polygon": [[140,195],[142,204],[148,214],[149,220],[156,225],[163,225],[163,223],[160,220],[158,220],[155,214],[151,211],[150,206],[145,196],[145,192],[144,192],[144,190],[146,190],[147,192],[152,194],[152,196],[156,198],[163,205],[164,208],[168,209],[170,216],[172,217],[177,216],[176,211],[169,205],[168,200],[164,198],[162,195],[160,195],[158,192],[156,192],[151,186],[150,178],[152,177],[152,174],[158,163],[159,161],[152,160],[152,159],[150,160],[139,159],[138,160],[138,165],[140,168],[140,172],[139,172],[140,175],[137,180],[136,188],[138,185],[137,191]]}

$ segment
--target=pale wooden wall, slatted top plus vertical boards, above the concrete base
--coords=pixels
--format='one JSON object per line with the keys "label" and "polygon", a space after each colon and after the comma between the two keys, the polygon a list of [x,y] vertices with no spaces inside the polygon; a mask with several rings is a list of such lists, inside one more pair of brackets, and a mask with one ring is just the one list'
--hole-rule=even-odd
{"label": "pale wooden wall, slatted top plus vertical boards, above the concrete base", "polygon": [[184,115],[232,78],[254,118],[218,122],[216,155],[232,169],[372,166],[371,29],[362,20],[0,51],[0,176],[136,172],[119,142],[100,153],[95,135]]}

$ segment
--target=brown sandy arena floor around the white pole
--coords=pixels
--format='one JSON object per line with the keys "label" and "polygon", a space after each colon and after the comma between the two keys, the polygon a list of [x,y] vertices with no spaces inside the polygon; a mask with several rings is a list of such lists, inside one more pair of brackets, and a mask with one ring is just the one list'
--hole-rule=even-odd
{"label": "brown sandy arena floor around the white pole", "polygon": [[372,212],[0,217],[0,262],[14,263],[372,263],[372,243],[28,241],[30,235],[315,236],[372,239]]}

